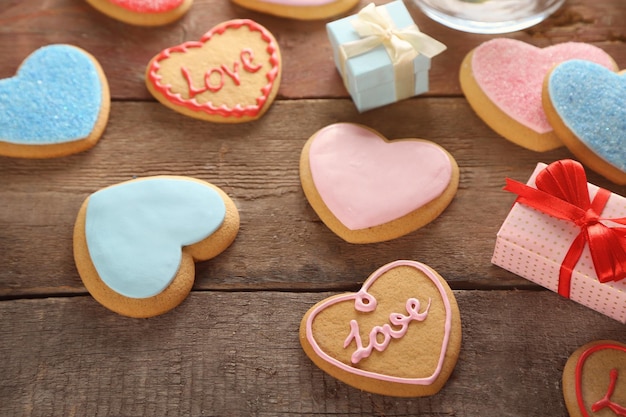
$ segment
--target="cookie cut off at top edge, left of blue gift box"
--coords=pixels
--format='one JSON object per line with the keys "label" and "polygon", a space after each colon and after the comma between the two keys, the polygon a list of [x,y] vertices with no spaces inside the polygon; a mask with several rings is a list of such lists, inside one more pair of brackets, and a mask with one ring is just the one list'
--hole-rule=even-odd
{"label": "cookie cut off at top edge, left of blue gift box", "polygon": [[250,10],[298,20],[316,20],[344,13],[358,0],[232,0]]}

